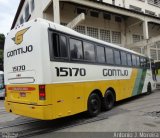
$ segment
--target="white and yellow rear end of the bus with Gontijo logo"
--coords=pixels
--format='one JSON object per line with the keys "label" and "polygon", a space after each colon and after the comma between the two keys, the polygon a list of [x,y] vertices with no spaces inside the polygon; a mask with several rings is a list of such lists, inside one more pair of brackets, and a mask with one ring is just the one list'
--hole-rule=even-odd
{"label": "white and yellow rear end of the bus with Gontijo logo", "polygon": [[49,54],[45,54],[49,51],[48,41],[44,41],[48,39],[48,24],[38,22],[25,23],[12,30],[6,38],[5,107],[14,114],[45,120],[53,118],[49,111],[51,101],[46,100],[49,95],[46,95],[43,73],[49,66]]}

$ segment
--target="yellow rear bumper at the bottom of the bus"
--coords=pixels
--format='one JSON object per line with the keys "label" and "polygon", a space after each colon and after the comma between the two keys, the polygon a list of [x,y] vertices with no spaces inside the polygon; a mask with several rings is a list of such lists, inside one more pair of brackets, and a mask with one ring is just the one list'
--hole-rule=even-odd
{"label": "yellow rear bumper at the bottom of the bus", "polygon": [[5,108],[7,112],[11,112],[26,117],[31,117],[41,120],[54,119],[52,105],[37,106],[37,105],[27,105],[27,104],[5,101]]}

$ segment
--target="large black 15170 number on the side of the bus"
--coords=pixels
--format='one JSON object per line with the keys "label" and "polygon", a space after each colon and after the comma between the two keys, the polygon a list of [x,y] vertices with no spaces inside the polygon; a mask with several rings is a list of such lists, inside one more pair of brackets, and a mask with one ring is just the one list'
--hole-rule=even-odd
{"label": "large black 15170 number on the side of the bus", "polygon": [[86,76],[86,70],[84,68],[55,67],[55,69],[57,77]]}

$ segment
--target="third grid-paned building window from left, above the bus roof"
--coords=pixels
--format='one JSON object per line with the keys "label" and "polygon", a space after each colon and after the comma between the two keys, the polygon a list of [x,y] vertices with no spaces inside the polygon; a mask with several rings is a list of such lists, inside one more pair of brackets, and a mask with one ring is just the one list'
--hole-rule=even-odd
{"label": "third grid-paned building window from left, above the bus roof", "polygon": [[100,39],[106,42],[111,42],[110,31],[100,29]]}

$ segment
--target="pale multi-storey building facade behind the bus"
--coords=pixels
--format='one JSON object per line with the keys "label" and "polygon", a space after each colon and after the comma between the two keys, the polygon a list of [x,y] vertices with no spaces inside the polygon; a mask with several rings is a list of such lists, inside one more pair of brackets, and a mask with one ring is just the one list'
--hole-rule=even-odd
{"label": "pale multi-storey building facade behind the bus", "polygon": [[44,18],[160,61],[160,0],[21,0],[12,28]]}

